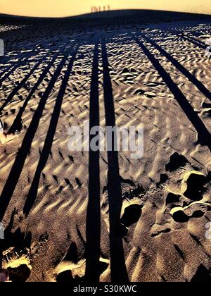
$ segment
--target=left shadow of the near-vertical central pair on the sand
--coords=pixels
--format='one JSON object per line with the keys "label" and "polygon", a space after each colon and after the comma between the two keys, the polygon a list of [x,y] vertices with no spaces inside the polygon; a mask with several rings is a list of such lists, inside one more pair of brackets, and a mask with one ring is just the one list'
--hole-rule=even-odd
{"label": "left shadow of the near-vertical central pair on the sand", "polygon": [[[94,60],[90,90],[89,130],[100,125],[99,91],[98,91],[98,43],[94,48]],[[96,135],[90,135],[89,145]],[[87,247],[86,280],[99,281],[99,262],[101,255],[101,183],[100,151],[89,151],[89,202],[87,207]]]}

